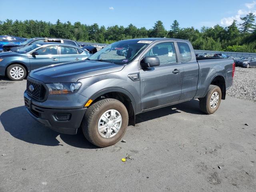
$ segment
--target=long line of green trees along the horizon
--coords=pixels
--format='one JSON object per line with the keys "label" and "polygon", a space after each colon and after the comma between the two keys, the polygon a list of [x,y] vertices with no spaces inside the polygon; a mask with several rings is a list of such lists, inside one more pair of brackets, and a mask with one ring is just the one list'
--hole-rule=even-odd
{"label": "long line of green trees along the horizon", "polygon": [[177,20],[166,30],[162,21],[156,21],[150,29],[137,28],[133,24],[124,26],[99,26],[81,22],[55,24],[38,20],[0,20],[0,35],[33,37],[67,38],[80,42],[112,43],[130,38],[167,37],[189,40],[194,49],[234,52],[256,52],[256,24],[252,13],[242,17],[242,23],[234,20],[228,27],[215,25],[203,26],[200,30],[194,27],[180,28]]}

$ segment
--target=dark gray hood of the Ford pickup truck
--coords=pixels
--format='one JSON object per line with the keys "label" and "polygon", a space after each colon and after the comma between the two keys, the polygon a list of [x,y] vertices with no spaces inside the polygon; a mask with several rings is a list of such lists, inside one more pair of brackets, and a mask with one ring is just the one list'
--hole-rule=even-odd
{"label": "dark gray hood of the Ford pickup truck", "polygon": [[120,71],[124,65],[98,61],[67,62],[30,72],[30,77],[45,83],[77,82],[79,79]]}

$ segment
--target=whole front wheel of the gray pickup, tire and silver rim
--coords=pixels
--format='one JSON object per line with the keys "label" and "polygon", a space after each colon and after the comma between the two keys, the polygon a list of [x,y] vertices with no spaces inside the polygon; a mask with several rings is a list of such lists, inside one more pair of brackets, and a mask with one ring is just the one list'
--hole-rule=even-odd
{"label": "whole front wheel of the gray pickup, tire and silver rim", "polygon": [[88,108],[81,128],[86,139],[99,147],[116,144],[128,126],[128,112],[116,99],[100,100]]}

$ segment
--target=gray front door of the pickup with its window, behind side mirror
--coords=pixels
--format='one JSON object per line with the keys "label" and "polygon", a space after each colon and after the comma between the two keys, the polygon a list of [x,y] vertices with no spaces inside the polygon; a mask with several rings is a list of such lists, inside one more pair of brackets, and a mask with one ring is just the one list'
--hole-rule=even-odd
{"label": "gray front door of the pickup with its window, behind side mirror", "polygon": [[157,56],[160,66],[140,68],[142,110],[177,102],[183,80],[183,64],[178,63],[174,42],[156,44],[145,56]]}

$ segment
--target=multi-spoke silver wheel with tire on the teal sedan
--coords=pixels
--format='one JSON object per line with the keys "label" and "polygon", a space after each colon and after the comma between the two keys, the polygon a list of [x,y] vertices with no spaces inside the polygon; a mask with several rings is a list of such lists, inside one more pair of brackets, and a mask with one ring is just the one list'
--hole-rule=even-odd
{"label": "multi-spoke silver wheel with tire on the teal sedan", "polygon": [[26,77],[26,69],[20,64],[12,64],[6,70],[7,77],[13,81],[20,81]]}

